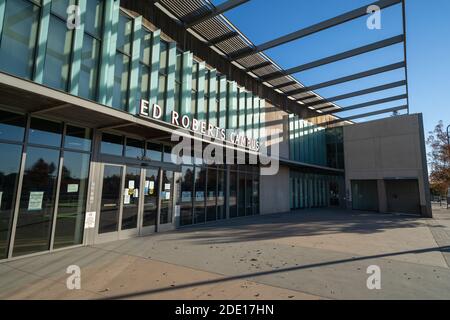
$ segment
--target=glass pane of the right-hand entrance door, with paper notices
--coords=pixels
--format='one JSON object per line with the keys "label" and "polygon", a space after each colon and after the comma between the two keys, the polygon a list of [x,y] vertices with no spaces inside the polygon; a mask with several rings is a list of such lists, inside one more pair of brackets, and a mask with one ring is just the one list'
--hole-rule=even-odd
{"label": "glass pane of the right-hand entrance door, with paper notices", "polygon": [[147,169],[144,186],[144,220],[143,226],[156,226],[158,214],[158,170]]}

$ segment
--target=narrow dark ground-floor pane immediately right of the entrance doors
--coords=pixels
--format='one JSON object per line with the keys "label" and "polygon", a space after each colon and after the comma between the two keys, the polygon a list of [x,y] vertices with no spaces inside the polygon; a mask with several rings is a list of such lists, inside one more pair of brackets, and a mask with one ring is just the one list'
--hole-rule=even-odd
{"label": "narrow dark ground-floor pane immediately right of the entrance doors", "polygon": [[183,167],[181,171],[180,195],[180,224],[182,226],[193,223],[192,219],[192,197],[194,192],[194,168]]}

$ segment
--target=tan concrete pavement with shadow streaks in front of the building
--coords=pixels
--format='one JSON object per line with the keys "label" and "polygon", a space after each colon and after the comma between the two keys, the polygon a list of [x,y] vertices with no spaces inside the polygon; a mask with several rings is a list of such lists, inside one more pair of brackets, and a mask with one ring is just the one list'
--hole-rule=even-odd
{"label": "tan concrete pavement with shadow streaks in front of the building", "polygon": [[77,248],[0,264],[0,298],[450,299],[450,212],[438,218],[304,210]]}

